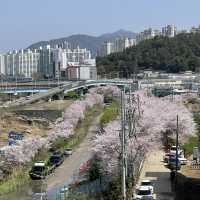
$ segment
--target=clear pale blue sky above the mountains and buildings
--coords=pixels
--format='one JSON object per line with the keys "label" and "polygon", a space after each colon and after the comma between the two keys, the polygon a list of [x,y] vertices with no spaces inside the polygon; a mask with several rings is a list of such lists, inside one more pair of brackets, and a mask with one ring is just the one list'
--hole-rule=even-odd
{"label": "clear pale blue sky above the mountains and buildings", "polygon": [[200,0],[0,0],[0,52],[72,34],[200,24]]}

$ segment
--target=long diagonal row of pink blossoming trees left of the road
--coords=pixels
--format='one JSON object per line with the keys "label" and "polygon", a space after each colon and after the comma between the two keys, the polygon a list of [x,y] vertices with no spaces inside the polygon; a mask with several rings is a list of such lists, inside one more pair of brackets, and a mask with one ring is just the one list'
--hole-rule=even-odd
{"label": "long diagonal row of pink blossoming trees left of the road", "polygon": [[86,111],[96,104],[103,104],[104,96],[114,94],[115,91],[115,87],[111,86],[90,89],[84,100],[75,101],[65,110],[63,121],[57,122],[48,135],[26,138],[17,145],[3,147],[1,151],[5,159],[24,164],[31,161],[41,149],[48,149],[58,138],[69,138],[75,134],[74,129],[84,119]]}

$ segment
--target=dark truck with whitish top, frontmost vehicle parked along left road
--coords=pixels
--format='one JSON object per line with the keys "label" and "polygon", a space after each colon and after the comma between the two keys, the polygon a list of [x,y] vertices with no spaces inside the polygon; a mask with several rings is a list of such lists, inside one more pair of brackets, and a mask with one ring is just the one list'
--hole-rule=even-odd
{"label": "dark truck with whitish top, frontmost vehicle parked along left road", "polygon": [[55,165],[49,166],[43,161],[34,163],[29,172],[29,176],[33,180],[45,179],[47,175],[55,170]]}

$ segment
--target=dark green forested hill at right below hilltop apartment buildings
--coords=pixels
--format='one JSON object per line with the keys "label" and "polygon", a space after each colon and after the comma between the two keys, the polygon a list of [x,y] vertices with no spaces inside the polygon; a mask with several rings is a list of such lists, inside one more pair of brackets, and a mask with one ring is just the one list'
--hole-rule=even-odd
{"label": "dark green forested hill at right below hilltop apartment buildings", "polygon": [[155,37],[137,46],[98,57],[99,74],[121,72],[131,74],[134,70],[153,69],[177,73],[200,69],[200,34],[179,34],[174,38]]}

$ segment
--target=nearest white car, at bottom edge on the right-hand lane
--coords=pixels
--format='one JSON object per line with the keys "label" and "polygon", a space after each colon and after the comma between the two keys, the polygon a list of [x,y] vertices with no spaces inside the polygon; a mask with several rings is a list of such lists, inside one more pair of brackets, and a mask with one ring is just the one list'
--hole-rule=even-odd
{"label": "nearest white car, at bottom edge on the right-hand lane", "polygon": [[140,186],[136,194],[133,195],[134,200],[141,200],[141,199],[153,199],[155,200],[155,195],[152,193],[151,188],[149,186]]}

